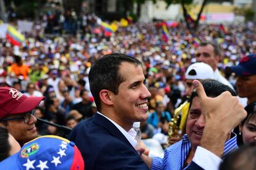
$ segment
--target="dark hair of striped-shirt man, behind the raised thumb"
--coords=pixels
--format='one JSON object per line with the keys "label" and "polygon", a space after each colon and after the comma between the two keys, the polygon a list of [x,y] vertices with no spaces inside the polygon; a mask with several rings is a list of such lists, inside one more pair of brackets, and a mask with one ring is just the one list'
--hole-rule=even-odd
{"label": "dark hair of striped-shirt man, behind the raised thumb", "polygon": [[[236,92],[231,89],[231,87],[220,83],[219,81],[216,81],[215,79],[204,79],[201,81],[203,85],[203,89],[205,90],[205,94],[208,97],[217,97],[218,95],[221,95],[223,92],[229,91],[231,95],[236,96]],[[190,97],[190,105],[189,108],[192,105],[192,101],[195,96],[198,96],[196,91],[192,92],[192,95]]]}

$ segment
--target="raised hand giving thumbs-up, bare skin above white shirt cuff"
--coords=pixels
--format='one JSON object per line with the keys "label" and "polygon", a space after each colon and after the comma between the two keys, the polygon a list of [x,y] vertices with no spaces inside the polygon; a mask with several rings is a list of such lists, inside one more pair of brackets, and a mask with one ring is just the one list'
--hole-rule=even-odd
{"label": "raised hand giving thumbs-up, bare skin above white shirt cuff", "polygon": [[247,113],[237,97],[232,96],[230,92],[223,92],[218,97],[211,98],[207,97],[199,81],[194,80],[193,86],[197,91],[202,113],[205,114],[205,127],[200,145],[221,157],[226,136]]}

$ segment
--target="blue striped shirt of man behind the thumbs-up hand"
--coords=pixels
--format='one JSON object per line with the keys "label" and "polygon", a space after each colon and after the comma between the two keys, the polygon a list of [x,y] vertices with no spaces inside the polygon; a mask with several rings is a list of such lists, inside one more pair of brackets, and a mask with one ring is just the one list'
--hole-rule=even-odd
{"label": "blue striped shirt of man behind the thumbs-up hand", "polygon": [[[166,170],[178,170],[187,169],[189,164],[183,168],[183,165],[189,155],[189,150],[191,148],[191,143],[187,134],[182,137],[182,140],[176,142],[176,144],[171,145],[164,151],[164,158],[153,158],[151,169],[166,169]],[[231,139],[227,140],[224,144],[224,152],[222,158],[224,158],[228,153],[236,150],[236,134],[232,132]]]}

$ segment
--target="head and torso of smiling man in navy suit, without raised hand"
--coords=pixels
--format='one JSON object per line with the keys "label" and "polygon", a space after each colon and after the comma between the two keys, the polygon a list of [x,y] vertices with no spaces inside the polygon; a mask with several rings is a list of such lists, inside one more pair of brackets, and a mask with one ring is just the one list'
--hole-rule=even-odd
{"label": "head and torso of smiling man in navy suit, without raised hand", "polygon": [[85,169],[148,169],[128,131],[148,118],[150,92],[143,84],[139,60],[105,55],[90,70],[90,90],[98,112],[70,133],[85,160]]}

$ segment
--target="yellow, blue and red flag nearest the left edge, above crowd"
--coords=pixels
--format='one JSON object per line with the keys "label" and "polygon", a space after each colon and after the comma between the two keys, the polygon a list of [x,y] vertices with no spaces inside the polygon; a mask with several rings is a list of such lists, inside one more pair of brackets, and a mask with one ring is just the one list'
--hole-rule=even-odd
{"label": "yellow, blue and red flag nearest the left edge, above crowd", "polygon": [[25,36],[11,25],[7,27],[6,38],[9,39],[14,46],[20,46],[20,44],[25,41]]}

